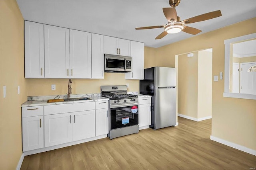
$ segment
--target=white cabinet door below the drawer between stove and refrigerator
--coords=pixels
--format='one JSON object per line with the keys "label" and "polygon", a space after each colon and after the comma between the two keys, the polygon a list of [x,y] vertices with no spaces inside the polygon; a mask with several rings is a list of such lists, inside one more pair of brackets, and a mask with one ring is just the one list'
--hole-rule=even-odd
{"label": "white cabinet door below the drawer between stove and refrigerator", "polygon": [[139,105],[139,127],[151,124],[151,104]]}

